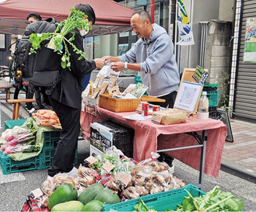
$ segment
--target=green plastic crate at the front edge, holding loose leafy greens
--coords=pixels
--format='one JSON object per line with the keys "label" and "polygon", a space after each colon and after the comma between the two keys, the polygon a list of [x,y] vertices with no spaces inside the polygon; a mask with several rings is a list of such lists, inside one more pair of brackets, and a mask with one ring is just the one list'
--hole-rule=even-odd
{"label": "green plastic crate at the front edge, holding loose leafy greens", "polygon": [[141,196],[134,200],[127,200],[121,203],[104,204],[103,211],[134,211],[134,206],[139,203],[139,199],[142,199],[149,209],[156,209],[157,211],[165,211],[167,209],[175,210],[177,204],[181,204],[184,200],[184,196],[188,196],[185,191],[188,190],[192,196],[202,196],[205,194],[198,187],[188,184],[181,189],[173,189],[166,192],[154,193],[147,196]]}

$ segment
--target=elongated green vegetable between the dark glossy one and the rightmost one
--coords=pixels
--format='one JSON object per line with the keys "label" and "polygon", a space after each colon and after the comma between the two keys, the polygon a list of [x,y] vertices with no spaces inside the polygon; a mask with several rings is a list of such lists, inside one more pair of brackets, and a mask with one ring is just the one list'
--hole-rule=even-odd
{"label": "elongated green vegetable between the dark glossy one and the rightmost one", "polygon": [[100,193],[103,189],[104,187],[100,183],[94,183],[84,189],[82,193],[79,194],[77,200],[83,204],[89,203],[91,200],[94,200],[97,194]]}

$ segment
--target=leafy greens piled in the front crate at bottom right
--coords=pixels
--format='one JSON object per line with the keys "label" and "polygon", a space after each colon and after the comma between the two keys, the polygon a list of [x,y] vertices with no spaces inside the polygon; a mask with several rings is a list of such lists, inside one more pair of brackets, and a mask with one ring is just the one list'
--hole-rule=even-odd
{"label": "leafy greens piled in the front crate at bottom right", "polygon": [[211,191],[203,196],[193,197],[188,192],[183,203],[178,205],[176,210],[168,211],[241,211],[243,201],[236,199],[229,192],[223,192],[219,186],[215,186]]}

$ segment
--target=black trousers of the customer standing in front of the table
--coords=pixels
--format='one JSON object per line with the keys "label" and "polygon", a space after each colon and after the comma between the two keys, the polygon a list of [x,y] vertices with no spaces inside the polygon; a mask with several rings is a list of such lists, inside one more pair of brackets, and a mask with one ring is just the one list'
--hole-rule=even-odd
{"label": "black trousers of the customer standing in front of the table", "polygon": [[54,176],[58,172],[70,172],[73,169],[80,131],[81,109],[65,106],[55,99],[50,98],[50,101],[62,127],[54,159],[48,169],[48,175]]}

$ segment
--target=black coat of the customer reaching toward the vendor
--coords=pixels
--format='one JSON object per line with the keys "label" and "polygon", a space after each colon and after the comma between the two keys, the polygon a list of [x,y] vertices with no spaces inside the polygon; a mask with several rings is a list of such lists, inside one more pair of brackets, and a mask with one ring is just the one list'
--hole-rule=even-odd
{"label": "black coat of the customer reaching toward the vendor", "polygon": [[[72,36],[69,33],[66,37]],[[75,30],[75,40],[72,41],[75,46],[83,51],[82,36],[79,30]],[[71,46],[68,47],[71,54],[71,71],[68,68],[61,68],[61,82],[56,85],[54,91],[51,93],[51,98],[58,102],[71,106],[76,109],[81,109],[81,95],[82,95],[82,75],[85,75],[96,68],[95,61],[86,61],[82,58],[79,60],[79,54],[76,54]]]}

